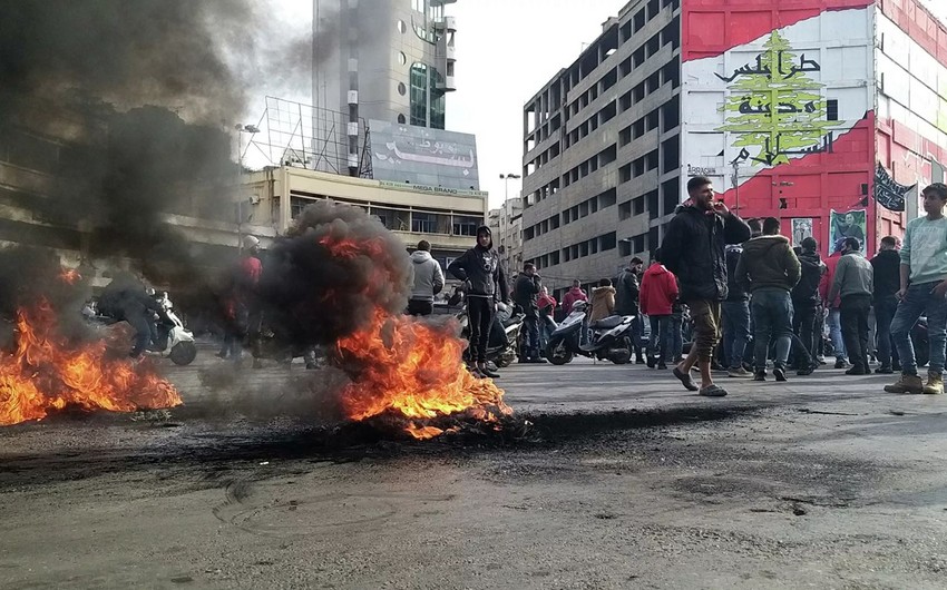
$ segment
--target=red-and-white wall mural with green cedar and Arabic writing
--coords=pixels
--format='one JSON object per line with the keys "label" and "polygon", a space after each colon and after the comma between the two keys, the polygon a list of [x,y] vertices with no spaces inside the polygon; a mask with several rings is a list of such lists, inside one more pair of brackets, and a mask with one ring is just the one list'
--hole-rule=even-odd
{"label": "red-and-white wall mural with green cedar and Arabic writing", "polygon": [[[744,217],[811,219],[824,244],[832,210],[870,216],[873,7],[712,3],[684,4],[682,174]],[[711,29],[721,16],[742,28]]]}

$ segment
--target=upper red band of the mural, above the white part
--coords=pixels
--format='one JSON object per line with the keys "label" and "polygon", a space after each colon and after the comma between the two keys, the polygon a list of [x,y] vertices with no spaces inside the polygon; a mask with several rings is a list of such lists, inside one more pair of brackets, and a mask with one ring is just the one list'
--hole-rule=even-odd
{"label": "upper red band of the mural, above the white part", "polygon": [[875,0],[685,0],[683,59],[720,56],[822,12],[873,3]]}

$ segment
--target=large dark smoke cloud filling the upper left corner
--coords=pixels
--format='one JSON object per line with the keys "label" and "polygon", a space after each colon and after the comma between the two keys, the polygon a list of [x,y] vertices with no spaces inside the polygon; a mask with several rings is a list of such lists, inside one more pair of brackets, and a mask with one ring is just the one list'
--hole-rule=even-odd
{"label": "large dark smoke cloud filling the upper left corner", "polygon": [[0,239],[127,256],[155,283],[207,276],[225,254],[164,214],[234,220],[231,134],[252,81],[310,66],[275,51],[272,22],[253,0],[0,2],[0,166],[51,179],[0,205],[56,228],[2,219]]}

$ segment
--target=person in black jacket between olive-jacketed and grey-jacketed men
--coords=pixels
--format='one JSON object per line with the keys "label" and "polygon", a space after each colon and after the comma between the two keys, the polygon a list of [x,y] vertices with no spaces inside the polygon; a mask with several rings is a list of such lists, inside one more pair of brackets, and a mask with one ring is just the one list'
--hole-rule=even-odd
{"label": "person in black jacket between olive-jacketed and grey-jacketed men", "polygon": [[792,287],[792,332],[802,341],[808,355],[800,354],[793,347],[797,368],[800,375],[812,373],[818,366],[816,355],[817,334],[816,334],[816,308],[819,305],[819,282],[822,279],[822,273],[826,271],[826,265],[822,264],[822,258],[819,256],[819,243],[816,238],[809,236],[802,240],[802,248],[798,253],[799,264],[802,267],[802,276],[799,283]]}

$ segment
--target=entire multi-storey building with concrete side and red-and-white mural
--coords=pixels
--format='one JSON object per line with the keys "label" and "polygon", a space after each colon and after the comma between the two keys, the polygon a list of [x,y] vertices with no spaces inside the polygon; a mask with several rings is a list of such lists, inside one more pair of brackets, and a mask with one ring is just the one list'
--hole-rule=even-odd
{"label": "entire multi-storey building with concrete side and red-and-white mural", "polygon": [[709,176],[743,217],[873,252],[947,163],[947,28],[917,0],[634,0],[525,108],[524,256],[609,276]]}

